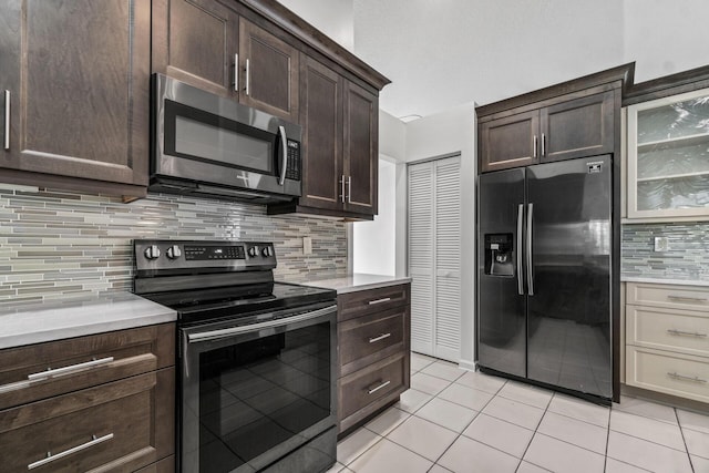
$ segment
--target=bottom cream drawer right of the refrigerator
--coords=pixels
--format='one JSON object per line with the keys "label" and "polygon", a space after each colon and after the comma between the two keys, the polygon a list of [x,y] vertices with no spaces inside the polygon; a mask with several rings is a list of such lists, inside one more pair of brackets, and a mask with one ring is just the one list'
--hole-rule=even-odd
{"label": "bottom cream drawer right of the refrigerator", "polygon": [[699,357],[627,347],[626,383],[709,402],[709,363]]}

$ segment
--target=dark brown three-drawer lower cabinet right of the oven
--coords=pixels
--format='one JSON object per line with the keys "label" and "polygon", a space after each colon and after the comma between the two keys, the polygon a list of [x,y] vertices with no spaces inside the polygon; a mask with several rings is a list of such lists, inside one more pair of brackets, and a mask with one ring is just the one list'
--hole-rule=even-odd
{"label": "dark brown three-drawer lower cabinet right of the oven", "polygon": [[407,282],[338,296],[340,436],[398,401],[411,384],[409,294]]}

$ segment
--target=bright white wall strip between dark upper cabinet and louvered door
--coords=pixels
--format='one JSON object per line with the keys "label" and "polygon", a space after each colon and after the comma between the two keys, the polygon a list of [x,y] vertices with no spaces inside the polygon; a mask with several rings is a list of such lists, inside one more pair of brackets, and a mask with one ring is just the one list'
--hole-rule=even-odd
{"label": "bright white wall strip between dark upper cabinet and louvered door", "polygon": [[371,275],[395,275],[397,164],[379,160],[379,213],[373,222],[352,224],[352,269]]}

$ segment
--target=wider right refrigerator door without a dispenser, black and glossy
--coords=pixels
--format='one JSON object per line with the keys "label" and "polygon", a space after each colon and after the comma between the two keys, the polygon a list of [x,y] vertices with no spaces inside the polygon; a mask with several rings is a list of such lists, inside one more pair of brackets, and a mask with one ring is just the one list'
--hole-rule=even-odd
{"label": "wider right refrigerator door without a dispenser, black and glossy", "polygon": [[610,156],[527,168],[527,377],[603,398],[613,392],[610,176]]}

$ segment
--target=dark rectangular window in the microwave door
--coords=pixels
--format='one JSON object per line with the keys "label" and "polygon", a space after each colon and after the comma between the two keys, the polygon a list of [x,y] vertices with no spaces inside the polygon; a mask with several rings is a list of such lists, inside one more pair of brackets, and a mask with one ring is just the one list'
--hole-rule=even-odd
{"label": "dark rectangular window in the microwave door", "polygon": [[165,101],[165,153],[276,175],[277,135]]}

